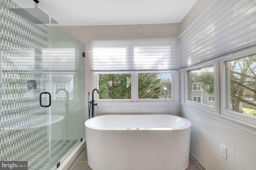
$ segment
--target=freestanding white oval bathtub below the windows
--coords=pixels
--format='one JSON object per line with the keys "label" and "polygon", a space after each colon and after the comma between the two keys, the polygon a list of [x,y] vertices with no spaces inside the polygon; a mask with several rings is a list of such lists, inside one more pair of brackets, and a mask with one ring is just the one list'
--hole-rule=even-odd
{"label": "freestanding white oval bathtub below the windows", "polygon": [[191,123],[173,115],[103,115],[85,122],[94,170],[184,170]]}

